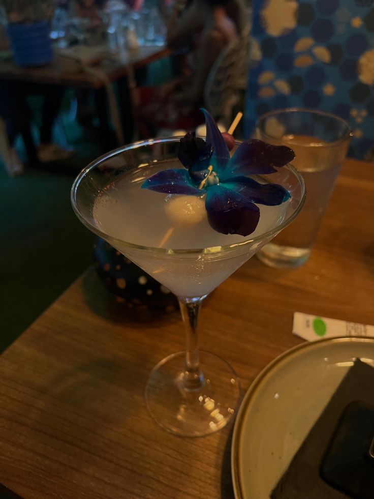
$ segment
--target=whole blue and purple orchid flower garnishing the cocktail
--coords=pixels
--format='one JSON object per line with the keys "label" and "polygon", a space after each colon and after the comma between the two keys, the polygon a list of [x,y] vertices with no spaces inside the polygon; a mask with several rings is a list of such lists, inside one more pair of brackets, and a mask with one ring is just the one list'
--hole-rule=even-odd
{"label": "whole blue and purple orchid flower garnishing the cocktail", "polygon": [[[205,115],[206,139],[186,134],[178,149],[185,169],[169,169],[147,179],[143,189],[165,194],[205,194],[205,209],[211,227],[223,234],[248,236],[257,227],[257,204],[275,206],[289,199],[290,193],[277,184],[260,184],[249,175],[273,173],[295,157],[284,145],[261,140],[242,142],[232,157],[211,115]],[[256,203],[256,204],[255,204]]]}

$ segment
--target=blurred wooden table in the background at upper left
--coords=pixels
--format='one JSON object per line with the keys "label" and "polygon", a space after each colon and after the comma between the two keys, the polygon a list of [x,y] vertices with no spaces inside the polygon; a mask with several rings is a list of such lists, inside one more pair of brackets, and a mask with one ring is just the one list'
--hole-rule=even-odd
{"label": "blurred wooden table in the background at upper left", "polygon": [[[0,63],[0,80],[22,81],[25,85],[29,82],[55,84],[95,91],[101,138],[106,150],[115,145],[111,141],[105,84],[115,83],[120,115],[120,124],[115,125],[121,127],[119,134],[117,130],[117,142],[121,134],[125,142],[131,142],[134,134],[131,96],[134,74],[151,62],[167,57],[171,53],[170,50],[165,45],[142,45],[136,49],[122,49],[118,53],[109,53],[106,46],[83,47],[83,50],[85,52],[82,52],[82,47],[55,49],[53,61],[42,67],[22,68],[12,60],[3,60]],[[79,62],[79,57],[83,64]],[[85,59],[91,62],[84,64]]]}

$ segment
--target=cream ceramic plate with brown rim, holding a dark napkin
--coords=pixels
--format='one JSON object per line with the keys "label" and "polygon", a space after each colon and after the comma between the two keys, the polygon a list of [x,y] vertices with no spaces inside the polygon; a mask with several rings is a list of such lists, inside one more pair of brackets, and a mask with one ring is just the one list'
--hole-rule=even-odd
{"label": "cream ceramic plate with brown rim, holding a dark napkin", "polygon": [[257,376],[234,427],[231,469],[236,499],[269,499],[356,357],[374,366],[374,338],[303,343]]}

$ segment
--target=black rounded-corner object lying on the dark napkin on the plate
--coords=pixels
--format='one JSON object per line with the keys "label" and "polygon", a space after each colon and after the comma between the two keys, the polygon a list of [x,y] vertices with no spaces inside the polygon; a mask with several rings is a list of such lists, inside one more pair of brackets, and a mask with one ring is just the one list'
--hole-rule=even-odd
{"label": "black rounded-corner object lying on the dark napkin on the plate", "polygon": [[374,406],[351,402],[342,414],[323,458],[321,477],[355,499],[374,497]]}

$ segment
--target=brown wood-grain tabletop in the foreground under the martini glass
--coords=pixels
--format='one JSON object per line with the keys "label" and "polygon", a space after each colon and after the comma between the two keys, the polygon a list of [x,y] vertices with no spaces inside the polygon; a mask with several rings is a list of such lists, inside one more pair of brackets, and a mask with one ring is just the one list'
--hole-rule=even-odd
{"label": "brown wood-grain tabletop in the foreground under the martini glass", "polygon": [[[301,341],[295,311],[374,324],[373,192],[373,165],[348,160],[305,266],[253,258],[207,299],[201,348],[244,391]],[[147,412],[150,369],[182,348],[178,313],[140,320],[79,278],[0,357],[0,482],[24,499],[232,498],[232,425],[184,439]]]}

